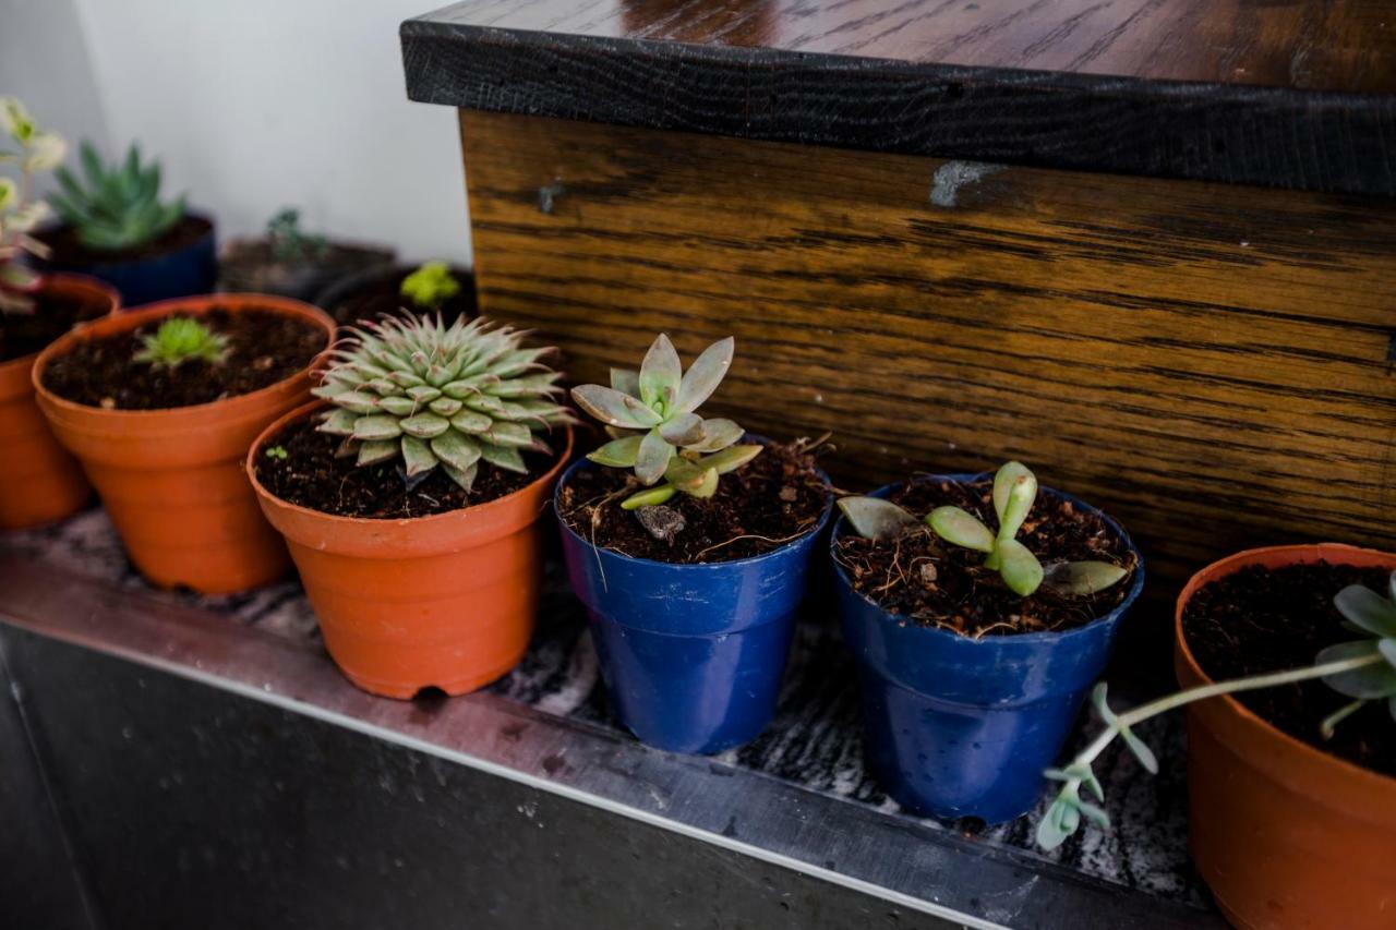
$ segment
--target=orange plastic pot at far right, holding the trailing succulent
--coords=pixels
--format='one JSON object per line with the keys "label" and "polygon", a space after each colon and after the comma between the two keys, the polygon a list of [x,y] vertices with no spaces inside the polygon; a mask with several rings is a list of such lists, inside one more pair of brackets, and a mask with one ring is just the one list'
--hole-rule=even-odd
{"label": "orange plastic pot at far right, holding the trailing succulent", "polygon": [[[1182,637],[1198,588],[1247,566],[1319,560],[1396,568],[1396,554],[1335,543],[1252,549],[1206,567],[1178,598],[1178,683],[1212,680]],[[1228,695],[1188,707],[1188,796],[1194,862],[1235,926],[1396,927],[1396,778],[1282,733]]]}

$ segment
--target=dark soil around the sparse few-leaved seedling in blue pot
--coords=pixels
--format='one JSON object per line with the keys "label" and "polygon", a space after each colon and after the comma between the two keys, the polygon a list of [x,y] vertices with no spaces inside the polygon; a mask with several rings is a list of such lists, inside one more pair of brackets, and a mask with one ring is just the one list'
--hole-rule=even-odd
{"label": "dark soil around the sparse few-leaved seedling in blue pot", "polygon": [[[997,531],[993,490],[993,479],[967,485],[919,479],[898,489],[891,500],[917,519],[937,507],[960,507]],[[984,553],[942,540],[924,522],[882,542],[846,533],[835,557],[853,586],[884,610],[976,638],[1082,627],[1118,607],[1129,593],[1135,567],[1129,547],[1099,515],[1078,510],[1064,497],[1040,490],[1018,540],[1044,566],[1108,561],[1128,566],[1131,575],[1094,595],[1068,596],[1043,585],[1020,598],[998,571],[984,567]]]}

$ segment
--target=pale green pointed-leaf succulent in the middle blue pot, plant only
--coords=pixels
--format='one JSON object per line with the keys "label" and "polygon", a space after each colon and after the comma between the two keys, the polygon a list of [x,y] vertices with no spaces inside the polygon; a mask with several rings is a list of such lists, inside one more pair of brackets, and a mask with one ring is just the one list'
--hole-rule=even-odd
{"label": "pale green pointed-leaf succulent in the middle blue pot, plant only", "polygon": [[659,334],[639,371],[611,369],[611,385],[572,388],[577,405],[606,425],[611,441],[586,458],[609,468],[632,468],[649,487],[624,500],[634,510],[662,504],[676,493],[712,497],[718,476],[733,472],[761,452],[737,445],[743,429],[727,419],[705,420],[695,412],[718,390],[736,342],[713,342],[684,373],[669,337]]}

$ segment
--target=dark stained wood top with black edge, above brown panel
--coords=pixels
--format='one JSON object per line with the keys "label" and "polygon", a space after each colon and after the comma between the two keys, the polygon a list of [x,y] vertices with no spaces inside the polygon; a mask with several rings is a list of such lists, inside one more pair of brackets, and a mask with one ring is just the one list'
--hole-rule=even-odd
{"label": "dark stained wood top with black edge, above brown panel", "polygon": [[402,42],[465,109],[1396,194],[1389,0],[466,0]]}

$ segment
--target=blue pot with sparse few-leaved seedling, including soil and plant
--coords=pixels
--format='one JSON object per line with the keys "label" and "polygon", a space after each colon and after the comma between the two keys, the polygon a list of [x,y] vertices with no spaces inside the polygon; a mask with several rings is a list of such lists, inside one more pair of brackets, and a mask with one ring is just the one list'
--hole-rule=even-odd
{"label": "blue pot with sparse few-leaved seedling, including soil and plant", "polygon": [[1143,586],[1138,550],[1019,462],[839,508],[839,612],[872,772],[920,814],[1018,817]]}

